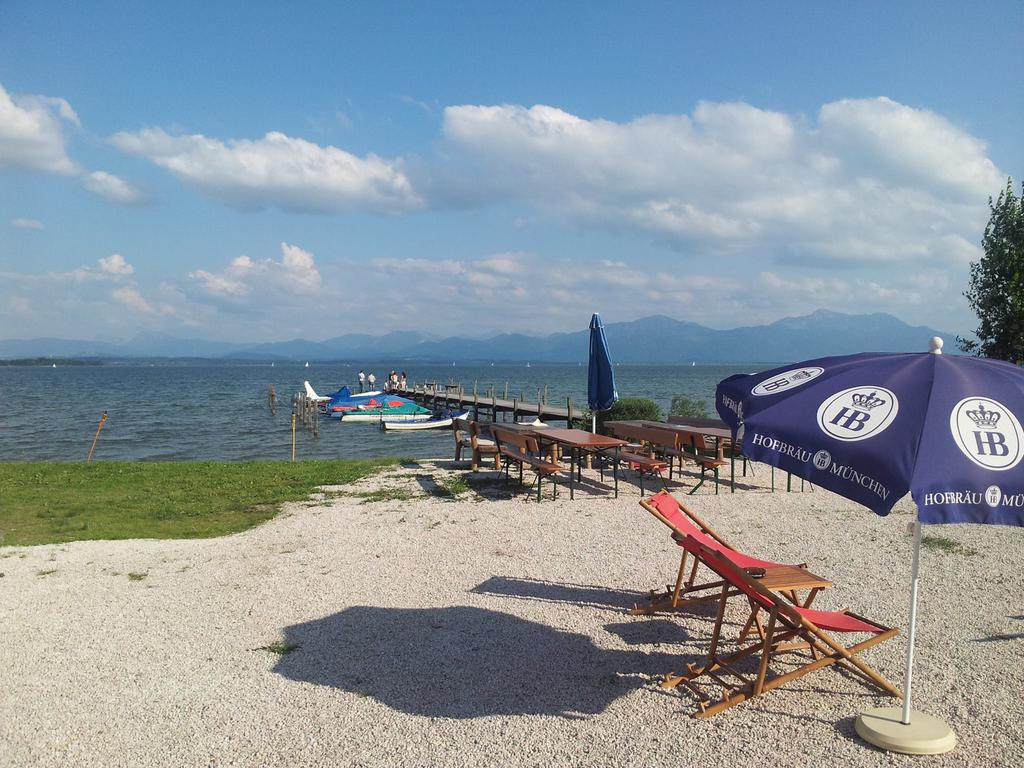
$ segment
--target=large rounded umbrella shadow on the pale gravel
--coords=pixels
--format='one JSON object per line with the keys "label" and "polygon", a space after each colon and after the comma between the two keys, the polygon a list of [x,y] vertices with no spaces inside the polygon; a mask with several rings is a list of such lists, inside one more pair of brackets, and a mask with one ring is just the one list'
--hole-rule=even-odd
{"label": "large rounded umbrella shadow on the pale gravel", "polygon": [[273,668],[290,680],[457,719],[596,715],[681,662],[468,606],[355,606],[288,627],[284,641],[301,646]]}

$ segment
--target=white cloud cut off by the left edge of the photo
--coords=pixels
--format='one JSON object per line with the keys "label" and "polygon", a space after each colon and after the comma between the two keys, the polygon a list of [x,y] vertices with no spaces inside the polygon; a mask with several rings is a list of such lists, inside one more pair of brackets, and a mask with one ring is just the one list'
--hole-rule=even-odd
{"label": "white cloud cut off by the left edge of the photo", "polygon": [[78,173],[68,157],[61,121],[79,125],[78,115],[62,98],[14,97],[0,85],[0,169]]}

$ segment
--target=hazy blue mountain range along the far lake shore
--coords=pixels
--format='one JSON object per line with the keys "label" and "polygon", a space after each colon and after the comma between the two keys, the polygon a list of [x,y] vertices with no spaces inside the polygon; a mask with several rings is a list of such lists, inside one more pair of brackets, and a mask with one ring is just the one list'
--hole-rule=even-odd
{"label": "hazy blue mountain range along the far lake shore", "polygon": [[[439,339],[417,331],[384,336],[346,334],[326,341],[293,339],[236,344],[142,334],[124,343],[68,339],[0,341],[0,357],[202,357],[220,360],[351,360],[358,362],[580,362],[589,331],[550,336],[501,334]],[[891,314],[843,314],[819,309],[767,326],[716,331],[652,315],[605,326],[616,362],[771,362],[854,352],[919,352],[941,336],[954,351],[954,334],[908,326]]]}

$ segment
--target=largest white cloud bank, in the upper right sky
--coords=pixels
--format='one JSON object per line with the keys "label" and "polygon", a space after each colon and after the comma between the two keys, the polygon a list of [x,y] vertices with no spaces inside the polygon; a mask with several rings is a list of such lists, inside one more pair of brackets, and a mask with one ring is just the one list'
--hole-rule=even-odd
{"label": "largest white cloud bank, in the upper right sky", "polygon": [[888,98],[825,104],[816,124],[744,103],[629,123],[459,105],[443,132],[455,170],[434,188],[453,204],[524,201],[705,255],[959,264],[1005,182],[981,140]]}

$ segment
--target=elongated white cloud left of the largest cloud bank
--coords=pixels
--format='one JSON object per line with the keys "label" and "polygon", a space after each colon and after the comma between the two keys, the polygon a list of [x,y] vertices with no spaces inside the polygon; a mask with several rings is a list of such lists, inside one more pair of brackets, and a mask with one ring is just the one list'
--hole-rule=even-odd
{"label": "elongated white cloud left of the largest cloud bank", "polygon": [[225,143],[200,134],[177,136],[148,128],[117,133],[111,142],[244,209],[390,213],[422,203],[400,162],[376,155],[359,158],[284,133]]}

